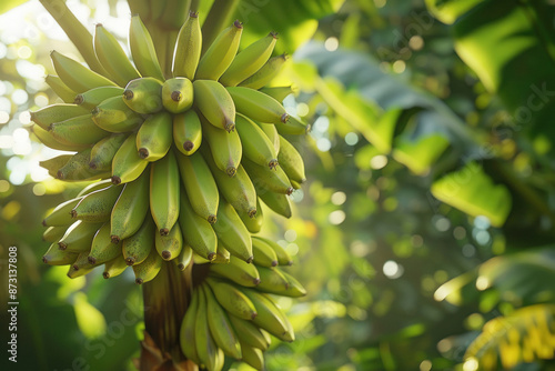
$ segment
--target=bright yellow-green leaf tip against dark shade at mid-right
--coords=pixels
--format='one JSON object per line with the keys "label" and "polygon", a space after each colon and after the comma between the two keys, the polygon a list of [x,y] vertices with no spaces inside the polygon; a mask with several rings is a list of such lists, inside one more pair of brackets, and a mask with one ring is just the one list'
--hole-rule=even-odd
{"label": "bright yellow-green leaf tip against dark shade at mid-right", "polygon": [[436,180],[432,184],[432,194],[470,215],[486,217],[495,227],[502,227],[511,211],[507,188],[495,186],[476,162]]}

